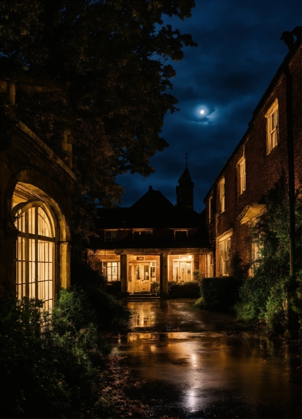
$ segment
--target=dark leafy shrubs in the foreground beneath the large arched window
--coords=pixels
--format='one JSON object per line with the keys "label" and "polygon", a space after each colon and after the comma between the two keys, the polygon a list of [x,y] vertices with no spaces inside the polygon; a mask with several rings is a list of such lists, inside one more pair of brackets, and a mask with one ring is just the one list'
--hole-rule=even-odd
{"label": "dark leafy shrubs in the foreground beneath the large arched window", "polygon": [[[2,417],[109,417],[101,374],[108,353],[101,332],[127,323],[129,313],[104,294],[99,312],[81,289],[60,292],[51,313],[42,301],[23,298],[0,305]],[[124,311],[123,311],[124,309]],[[122,314],[126,314],[123,322]],[[120,317],[119,317],[120,316]]]}

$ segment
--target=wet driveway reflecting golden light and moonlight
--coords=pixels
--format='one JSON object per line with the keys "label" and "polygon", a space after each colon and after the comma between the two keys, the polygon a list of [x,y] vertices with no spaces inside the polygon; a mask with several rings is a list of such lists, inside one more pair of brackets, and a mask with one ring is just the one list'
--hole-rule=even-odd
{"label": "wet driveway reflecting golden light and moonlight", "polygon": [[124,397],[142,410],[123,416],[301,417],[296,347],[236,331],[232,318],[192,310],[193,302],[128,303],[132,331],[112,356],[135,382]]}

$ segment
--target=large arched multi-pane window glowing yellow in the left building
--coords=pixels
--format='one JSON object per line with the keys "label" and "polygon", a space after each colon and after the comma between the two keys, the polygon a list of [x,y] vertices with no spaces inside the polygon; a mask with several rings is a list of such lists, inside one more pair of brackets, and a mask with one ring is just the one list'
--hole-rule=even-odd
{"label": "large arched multi-pane window glowing yellow in the left building", "polygon": [[44,300],[47,310],[53,306],[54,224],[42,206],[29,205],[15,214],[15,226],[18,229],[17,297]]}

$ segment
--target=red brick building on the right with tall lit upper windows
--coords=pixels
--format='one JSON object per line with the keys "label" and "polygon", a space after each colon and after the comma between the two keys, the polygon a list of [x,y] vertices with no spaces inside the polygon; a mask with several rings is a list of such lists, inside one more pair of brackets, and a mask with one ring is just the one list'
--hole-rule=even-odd
{"label": "red brick building on the right with tall lit upper windows", "polygon": [[[231,251],[245,263],[258,249],[248,241],[249,226],[261,211],[263,198],[282,172],[294,189],[301,187],[301,39],[289,52],[253,112],[248,129],[207,193],[207,227],[213,245],[214,275],[228,275]],[[292,37],[292,42],[291,42]]]}

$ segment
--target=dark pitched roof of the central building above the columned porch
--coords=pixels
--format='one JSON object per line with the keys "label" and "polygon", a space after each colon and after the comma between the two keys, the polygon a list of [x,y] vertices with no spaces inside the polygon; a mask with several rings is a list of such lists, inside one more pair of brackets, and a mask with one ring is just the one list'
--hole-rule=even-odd
{"label": "dark pitched roof of the central building above the columned porch", "polygon": [[[142,236],[134,241],[132,233],[127,232],[126,237],[114,242],[102,243],[106,249],[163,249],[163,248],[210,248],[204,214],[200,215],[194,209],[173,205],[160,191],[152,187],[130,207],[98,208],[98,230],[115,229],[193,229],[194,234],[174,240],[174,234],[154,234]],[[91,239],[91,247],[99,248],[99,238]]]}

